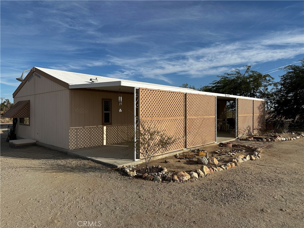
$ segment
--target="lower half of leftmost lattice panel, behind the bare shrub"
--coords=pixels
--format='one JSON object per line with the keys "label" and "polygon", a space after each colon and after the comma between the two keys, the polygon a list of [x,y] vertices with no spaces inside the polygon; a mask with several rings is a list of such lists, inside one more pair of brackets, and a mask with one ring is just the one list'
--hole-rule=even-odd
{"label": "lower half of leftmost lattice panel, behind the bare shrub", "polygon": [[[177,142],[170,146],[168,150],[161,150],[159,154],[168,153],[174,150],[184,149],[184,122],[185,119],[156,119],[156,120],[141,120],[141,124],[150,125],[152,128],[157,130],[164,131],[168,136],[172,136],[177,139]],[[140,158],[143,156],[140,154]]]}

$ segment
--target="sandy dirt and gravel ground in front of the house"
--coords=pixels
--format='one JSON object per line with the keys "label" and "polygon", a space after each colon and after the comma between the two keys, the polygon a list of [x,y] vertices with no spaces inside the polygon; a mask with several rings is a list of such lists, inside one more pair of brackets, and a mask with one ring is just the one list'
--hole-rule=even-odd
{"label": "sandy dirt and gravel ground in front of the house", "polygon": [[1,227],[304,226],[304,138],[198,181],[167,184],[38,146],[9,148],[6,128]]}

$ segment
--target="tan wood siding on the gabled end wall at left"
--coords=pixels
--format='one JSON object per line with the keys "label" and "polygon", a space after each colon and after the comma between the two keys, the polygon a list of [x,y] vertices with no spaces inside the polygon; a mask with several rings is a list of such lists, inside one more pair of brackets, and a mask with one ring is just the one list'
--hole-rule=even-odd
{"label": "tan wood siding on the gabled end wall at left", "polygon": [[56,147],[69,147],[69,90],[33,73],[14,97],[30,100],[30,126],[18,125],[17,136]]}

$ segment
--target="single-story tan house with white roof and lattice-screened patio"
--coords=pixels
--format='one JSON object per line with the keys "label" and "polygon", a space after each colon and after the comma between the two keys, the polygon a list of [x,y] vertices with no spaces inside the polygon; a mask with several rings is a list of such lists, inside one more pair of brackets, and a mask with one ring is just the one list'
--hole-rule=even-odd
{"label": "single-story tan house with white roof and lattice-screened patio", "polygon": [[[263,99],[40,67],[29,71],[13,98],[15,105],[5,117],[18,118],[17,137],[67,150],[123,143],[136,134],[139,120],[154,121],[181,137],[171,151],[265,126]],[[236,105],[230,122],[227,101]],[[134,160],[139,158],[135,150]]]}

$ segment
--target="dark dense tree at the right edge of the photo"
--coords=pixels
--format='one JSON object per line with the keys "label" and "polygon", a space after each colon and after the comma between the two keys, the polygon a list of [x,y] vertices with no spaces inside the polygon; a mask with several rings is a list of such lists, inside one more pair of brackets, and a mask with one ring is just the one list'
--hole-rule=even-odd
{"label": "dark dense tree at the right edge of the photo", "polygon": [[304,58],[300,65],[288,65],[273,90],[271,114],[273,119],[304,121]]}

